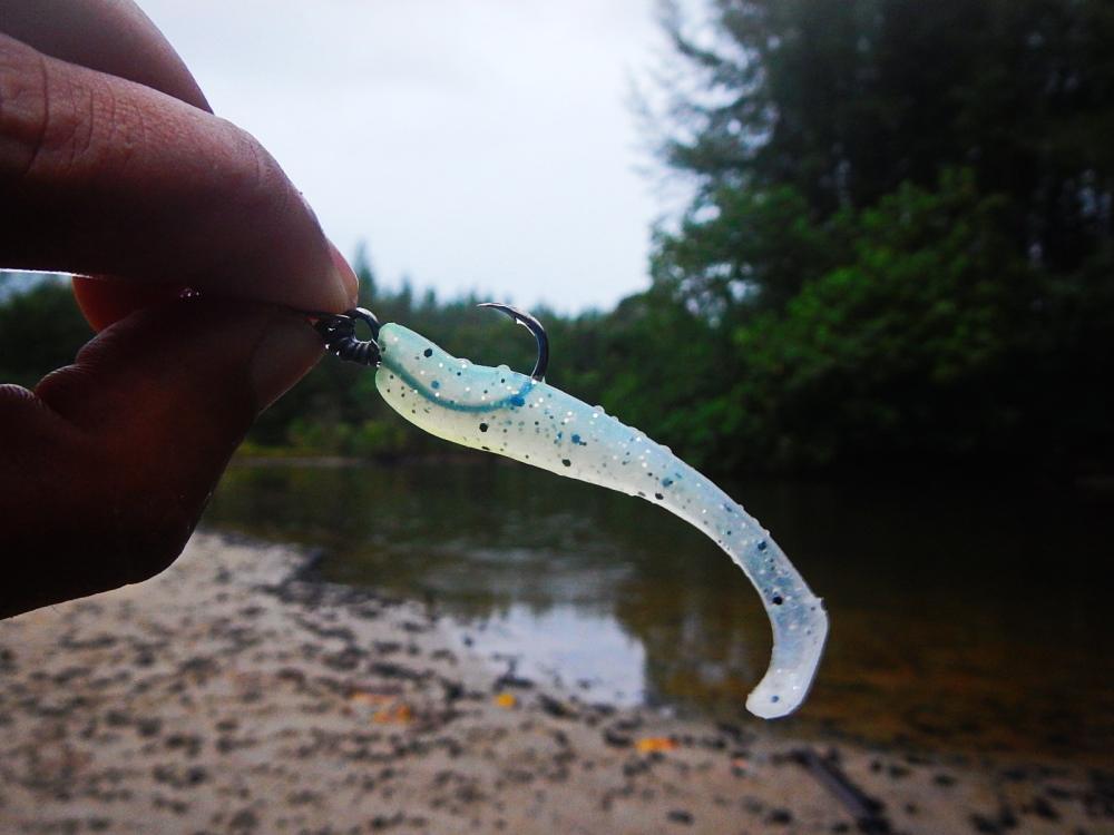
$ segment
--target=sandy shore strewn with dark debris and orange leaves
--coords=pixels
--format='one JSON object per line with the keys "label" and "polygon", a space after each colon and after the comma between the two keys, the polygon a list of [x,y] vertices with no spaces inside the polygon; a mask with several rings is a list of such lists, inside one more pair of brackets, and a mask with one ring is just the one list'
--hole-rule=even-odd
{"label": "sandy shore strewn with dark debris and orange leaves", "polygon": [[0,833],[1114,833],[1095,769],[586,705],[306,562],[198,534],[0,621]]}

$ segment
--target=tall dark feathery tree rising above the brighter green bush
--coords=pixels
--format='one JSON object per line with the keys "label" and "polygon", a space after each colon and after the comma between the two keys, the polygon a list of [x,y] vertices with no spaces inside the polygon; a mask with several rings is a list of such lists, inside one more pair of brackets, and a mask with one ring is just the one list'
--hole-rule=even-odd
{"label": "tall dark feathery tree rising above the brighter green bush", "polygon": [[[714,0],[665,27],[692,72],[659,151],[723,188],[791,186],[812,219],[948,167],[1010,198],[1019,249],[1075,269],[1114,233],[1114,7],[1106,0]],[[693,91],[695,88],[695,92]]]}

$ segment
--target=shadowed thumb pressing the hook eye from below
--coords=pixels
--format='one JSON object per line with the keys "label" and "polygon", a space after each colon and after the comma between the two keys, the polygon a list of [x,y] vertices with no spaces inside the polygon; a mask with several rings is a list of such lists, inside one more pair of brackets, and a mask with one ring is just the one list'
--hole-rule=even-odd
{"label": "shadowed thumb pressing the hook eye from below", "polygon": [[301,317],[177,301],[104,331],[35,394],[0,387],[0,616],[180,553],[255,416],[321,356]]}

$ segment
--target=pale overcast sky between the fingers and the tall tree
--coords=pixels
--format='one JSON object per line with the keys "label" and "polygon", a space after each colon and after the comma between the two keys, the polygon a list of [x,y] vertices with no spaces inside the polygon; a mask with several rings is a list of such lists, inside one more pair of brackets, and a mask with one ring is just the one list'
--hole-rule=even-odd
{"label": "pale overcast sky between the fingers and the tall tree", "polygon": [[560,311],[647,285],[653,0],[139,0],[381,282]]}

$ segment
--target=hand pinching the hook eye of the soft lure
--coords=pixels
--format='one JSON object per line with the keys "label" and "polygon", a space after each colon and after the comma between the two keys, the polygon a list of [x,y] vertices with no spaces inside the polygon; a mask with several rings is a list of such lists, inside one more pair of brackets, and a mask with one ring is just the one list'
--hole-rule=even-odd
{"label": "hand pinching the hook eye of the soft lure", "polygon": [[0,617],[173,562],[252,421],[321,355],[285,308],[355,294],[277,164],[128,0],[0,0],[0,265],[98,276],[75,292],[100,331],[33,393],[0,386]]}

